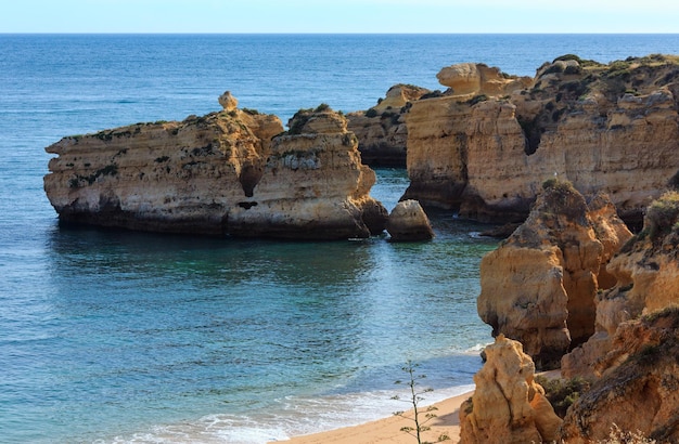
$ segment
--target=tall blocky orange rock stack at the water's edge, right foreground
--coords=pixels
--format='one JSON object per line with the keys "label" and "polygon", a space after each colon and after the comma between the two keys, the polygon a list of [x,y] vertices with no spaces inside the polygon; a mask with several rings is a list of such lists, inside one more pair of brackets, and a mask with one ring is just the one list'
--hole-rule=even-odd
{"label": "tall blocky orange rock stack at the water's edge, right foreground", "polygon": [[494,336],[554,368],[594,332],[594,297],[615,284],[602,269],[631,233],[605,196],[588,203],[555,179],[543,186],[528,219],[483,258],[477,309]]}

